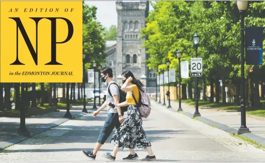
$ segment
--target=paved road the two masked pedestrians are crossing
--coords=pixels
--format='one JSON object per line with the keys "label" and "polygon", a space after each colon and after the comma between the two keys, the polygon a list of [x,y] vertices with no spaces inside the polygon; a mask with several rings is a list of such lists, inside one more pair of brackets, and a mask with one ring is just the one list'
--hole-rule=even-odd
{"label": "paved road the two masked pedestrians are crossing", "polygon": [[[4,162],[90,162],[81,149],[94,148],[106,112],[97,118],[91,114],[69,120],[35,135],[0,153]],[[152,102],[150,117],[143,127],[153,145],[156,161],[178,162],[262,162],[265,151],[239,140],[229,133],[169,111]],[[111,151],[110,139],[102,146],[96,162],[105,162],[101,154]],[[137,151],[139,158],[146,151]],[[116,161],[122,161],[128,151],[120,151]],[[136,160],[139,161],[139,160]]]}

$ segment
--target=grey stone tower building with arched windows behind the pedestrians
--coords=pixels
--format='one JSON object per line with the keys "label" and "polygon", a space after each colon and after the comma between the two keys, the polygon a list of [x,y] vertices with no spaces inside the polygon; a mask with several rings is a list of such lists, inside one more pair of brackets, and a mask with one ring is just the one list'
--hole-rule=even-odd
{"label": "grey stone tower building with arched windows behind the pedestrians", "polygon": [[155,87],[156,74],[148,70],[145,60],[148,55],[142,47],[146,38],[140,39],[140,30],[145,27],[149,2],[116,2],[118,14],[117,40],[106,42],[107,62],[104,66],[113,69],[114,79],[121,85],[121,74],[125,70],[133,72],[147,87]]}

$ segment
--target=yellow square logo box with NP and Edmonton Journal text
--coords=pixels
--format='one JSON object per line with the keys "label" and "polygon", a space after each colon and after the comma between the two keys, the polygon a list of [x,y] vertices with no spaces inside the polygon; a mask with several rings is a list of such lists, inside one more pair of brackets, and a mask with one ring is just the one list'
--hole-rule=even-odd
{"label": "yellow square logo box with NP and Edmonton Journal text", "polygon": [[82,1],[1,1],[0,82],[82,82]]}

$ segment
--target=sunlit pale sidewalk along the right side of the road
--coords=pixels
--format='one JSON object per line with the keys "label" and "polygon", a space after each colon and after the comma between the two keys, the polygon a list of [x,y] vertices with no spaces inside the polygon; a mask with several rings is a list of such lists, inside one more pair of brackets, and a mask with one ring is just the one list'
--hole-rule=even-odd
{"label": "sunlit pale sidewalk along the right side of the road", "polygon": [[[165,101],[166,106],[168,101]],[[179,103],[175,101],[170,101],[170,105],[173,110],[178,110]],[[191,107],[186,103],[182,102],[182,109],[187,112],[188,116],[192,116],[195,112],[195,107]],[[199,120],[213,126],[217,126],[230,133],[236,133],[241,125],[240,112],[223,112],[223,111],[213,111],[208,109],[200,109],[199,112],[201,117],[196,117]],[[251,117],[246,117],[246,126],[249,128],[251,133],[244,133],[241,136],[250,138],[254,141],[265,146],[265,121],[253,119]]]}

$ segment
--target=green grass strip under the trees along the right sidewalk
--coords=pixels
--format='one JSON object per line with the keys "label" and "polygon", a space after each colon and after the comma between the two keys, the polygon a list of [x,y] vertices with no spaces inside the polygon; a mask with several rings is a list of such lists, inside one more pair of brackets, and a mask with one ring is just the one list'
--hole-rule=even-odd
{"label": "green grass strip under the trees along the right sidewalk", "polygon": [[[179,100],[176,100],[179,101]],[[182,102],[187,103],[189,105],[195,106],[195,101],[193,100],[182,100]],[[258,108],[249,109],[249,106],[246,106],[246,114],[265,117],[265,100],[260,100],[261,106]],[[219,109],[219,110],[227,110],[227,111],[240,111],[239,105],[234,105],[232,103],[223,104],[220,100],[220,103],[210,103],[209,101],[199,101],[199,108],[204,109]]]}

